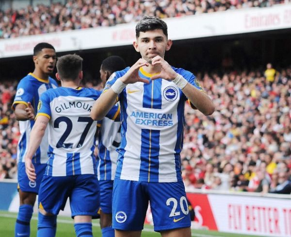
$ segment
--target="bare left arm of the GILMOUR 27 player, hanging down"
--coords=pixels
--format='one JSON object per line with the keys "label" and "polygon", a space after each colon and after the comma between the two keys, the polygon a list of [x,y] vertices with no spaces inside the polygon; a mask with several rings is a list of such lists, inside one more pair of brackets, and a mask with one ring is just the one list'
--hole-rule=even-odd
{"label": "bare left arm of the GILMOUR 27 player, hanging down", "polygon": [[45,135],[46,128],[49,123],[49,118],[43,115],[37,116],[35,123],[32,127],[32,132],[29,138],[28,151],[25,156],[25,172],[31,181],[36,180],[35,169],[32,164],[32,157],[39,147],[43,136]]}

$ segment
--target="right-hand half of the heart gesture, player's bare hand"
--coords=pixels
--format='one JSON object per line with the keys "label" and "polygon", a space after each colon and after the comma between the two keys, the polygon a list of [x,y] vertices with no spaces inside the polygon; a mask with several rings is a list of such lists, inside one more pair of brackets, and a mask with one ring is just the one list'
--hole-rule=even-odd
{"label": "right-hand half of the heart gesture, player's bare hand", "polygon": [[161,66],[161,73],[156,74],[150,78],[150,80],[156,80],[158,78],[162,78],[165,80],[172,81],[177,76],[178,73],[174,71],[174,69],[165,61],[161,56],[157,55],[152,59],[152,65],[160,65]]}

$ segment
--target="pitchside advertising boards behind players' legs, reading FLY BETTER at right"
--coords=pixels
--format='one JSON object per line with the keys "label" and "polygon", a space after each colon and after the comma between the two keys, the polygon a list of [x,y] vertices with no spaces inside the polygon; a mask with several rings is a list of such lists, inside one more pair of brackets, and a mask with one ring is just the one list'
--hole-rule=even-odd
{"label": "pitchside advertising boards behind players' legs, reading FLY BETTER at right", "polygon": [[[8,179],[0,182],[0,210],[18,211],[16,182]],[[187,198],[195,211],[192,228],[291,237],[291,195],[194,189],[187,191]],[[37,204],[34,211],[37,212]],[[60,215],[70,216],[68,202]],[[153,224],[150,209],[145,222]]]}

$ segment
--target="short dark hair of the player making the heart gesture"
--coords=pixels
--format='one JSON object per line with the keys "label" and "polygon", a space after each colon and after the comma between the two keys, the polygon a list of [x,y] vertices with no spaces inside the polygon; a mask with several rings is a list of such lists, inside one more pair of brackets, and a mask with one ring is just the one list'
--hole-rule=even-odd
{"label": "short dark hair of the player making the heart gesture", "polygon": [[153,31],[156,29],[162,29],[163,34],[168,37],[168,27],[166,22],[159,17],[146,16],[137,23],[135,27],[135,36],[138,38],[140,32]]}

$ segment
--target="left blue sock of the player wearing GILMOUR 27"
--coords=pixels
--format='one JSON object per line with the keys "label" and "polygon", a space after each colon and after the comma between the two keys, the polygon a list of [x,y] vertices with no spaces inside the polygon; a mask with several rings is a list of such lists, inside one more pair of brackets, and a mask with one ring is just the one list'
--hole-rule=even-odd
{"label": "left blue sock of the player wearing GILMOUR 27", "polygon": [[57,229],[57,216],[45,216],[38,212],[37,237],[54,237]]}

